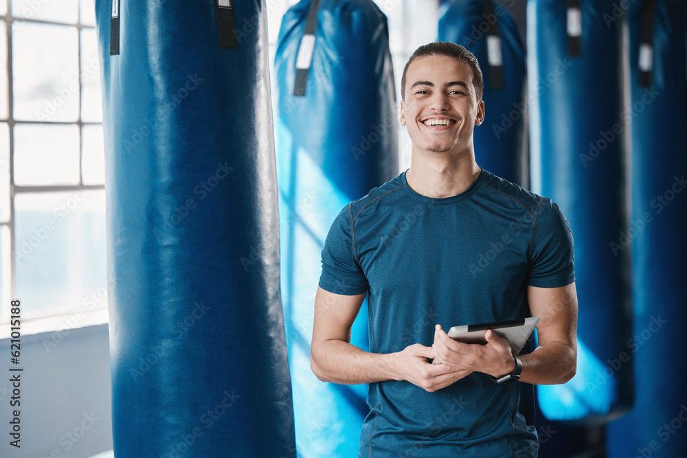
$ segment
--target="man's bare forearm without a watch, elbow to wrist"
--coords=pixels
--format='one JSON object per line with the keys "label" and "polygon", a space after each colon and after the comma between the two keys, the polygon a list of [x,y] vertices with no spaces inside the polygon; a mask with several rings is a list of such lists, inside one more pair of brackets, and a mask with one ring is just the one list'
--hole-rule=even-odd
{"label": "man's bare forearm without a watch, elbow to wrist", "polygon": [[311,367],[323,382],[357,385],[397,380],[394,354],[370,353],[345,341],[326,340],[311,349]]}

